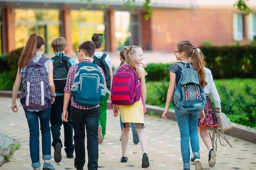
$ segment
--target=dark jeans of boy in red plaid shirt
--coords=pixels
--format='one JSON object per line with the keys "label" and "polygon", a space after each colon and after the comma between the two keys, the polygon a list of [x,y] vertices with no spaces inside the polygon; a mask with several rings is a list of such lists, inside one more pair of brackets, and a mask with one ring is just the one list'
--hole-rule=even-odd
{"label": "dark jeans of boy in red plaid shirt", "polygon": [[87,135],[87,152],[88,152],[88,170],[98,169],[99,143],[99,107],[81,110],[71,106],[74,144],[75,144],[75,165],[77,168],[83,168],[85,164],[85,127]]}

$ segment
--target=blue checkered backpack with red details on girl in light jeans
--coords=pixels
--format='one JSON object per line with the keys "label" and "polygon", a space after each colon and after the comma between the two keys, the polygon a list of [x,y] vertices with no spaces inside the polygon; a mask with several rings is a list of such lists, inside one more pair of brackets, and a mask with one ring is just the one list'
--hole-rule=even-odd
{"label": "blue checkered backpack with red details on girl in light jeans", "polygon": [[182,70],[180,80],[175,86],[173,106],[177,107],[179,113],[195,113],[204,110],[206,98],[199,83],[198,73],[193,69],[191,63],[177,64]]}

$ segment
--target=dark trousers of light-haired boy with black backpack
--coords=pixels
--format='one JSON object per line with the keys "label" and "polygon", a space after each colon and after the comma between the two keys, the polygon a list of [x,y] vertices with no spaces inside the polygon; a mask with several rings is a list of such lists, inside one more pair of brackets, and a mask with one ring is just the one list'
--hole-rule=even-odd
{"label": "dark trousers of light-haired boy with black backpack", "polygon": [[55,102],[51,106],[51,130],[52,130],[52,146],[55,147],[57,143],[61,145],[61,125],[64,126],[64,146],[65,152],[67,155],[72,155],[74,153],[74,144],[73,144],[73,127],[72,127],[72,117],[70,108],[71,105],[69,103],[67,111],[68,111],[68,122],[62,120],[62,110],[63,110],[63,99],[64,96],[56,96]]}

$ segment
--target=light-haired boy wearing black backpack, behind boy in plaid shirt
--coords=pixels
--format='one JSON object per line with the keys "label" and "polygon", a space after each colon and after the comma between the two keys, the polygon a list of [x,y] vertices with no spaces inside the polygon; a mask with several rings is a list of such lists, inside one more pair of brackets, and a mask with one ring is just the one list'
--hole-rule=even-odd
{"label": "light-haired boy wearing black backpack, behind boy in plaid shirt", "polygon": [[[63,146],[60,136],[61,136],[61,125],[64,126],[64,146],[67,158],[74,157],[74,144],[73,144],[73,128],[71,115],[68,116],[68,122],[62,120],[62,108],[63,108],[63,98],[64,98],[64,87],[67,77],[67,72],[70,66],[76,64],[76,62],[65,56],[65,51],[67,50],[67,42],[65,38],[58,37],[52,40],[52,49],[55,53],[55,57],[51,60],[54,65],[54,84],[56,88],[55,102],[51,106],[51,131],[52,131],[52,146],[54,147],[54,160],[56,162],[61,161],[61,148]],[[60,80],[60,77],[62,80]],[[61,86],[61,81],[63,81],[63,86]],[[68,110],[70,110],[70,102],[68,104]]]}

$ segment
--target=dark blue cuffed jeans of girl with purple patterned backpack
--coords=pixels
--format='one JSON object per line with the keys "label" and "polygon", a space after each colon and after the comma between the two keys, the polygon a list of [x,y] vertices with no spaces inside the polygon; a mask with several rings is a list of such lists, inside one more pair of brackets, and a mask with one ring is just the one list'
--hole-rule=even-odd
{"label": "dark blue cuffed jeans of girl with purple patterned backpack", "polygon": [[42,135],[43,159],[52,159],[51,155],[51,128],[50,108],[39,112],[25,110],[27,123],[29,125],[29,151],[32,160],[32,167],[40,167],[39,161],[39,121]]}

